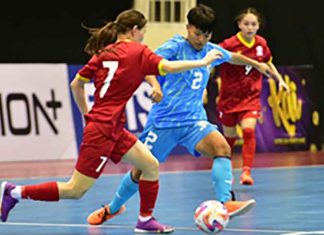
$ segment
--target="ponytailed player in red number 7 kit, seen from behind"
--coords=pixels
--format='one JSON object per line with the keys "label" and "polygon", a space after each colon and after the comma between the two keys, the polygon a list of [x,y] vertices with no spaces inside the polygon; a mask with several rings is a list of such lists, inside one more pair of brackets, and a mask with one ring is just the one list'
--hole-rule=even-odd
{"label": "ponytailed player in red number 7 kit, seen from behind", "polygon": [[[120,13],[116,21],[108,22],[102,28],[89,29],[91,36],[85,51],[92,58],[71,82],[75,101],[86,120],[73,175],[68,182],[26,186],[2,182],[0,215],[3,222],[20,199],[58,201],[81,198],[110,159],[114,163],[123,160],[142,171],[139,181],[140,215],[135,232],[173,232],[171,226],[160,224],[152,215],[159,188],[159,163],[148,148],[124,128],[125,106],[145,75],[162,75],[207,66],[222,54],[213,50],[201,60],[165,60],[141,44],[146,22],[142,13],[127,10]],[[84,84],[91,79],[96,90],[94,105],[88,110]],[[106,210],[103,213],[109,214]]]}

